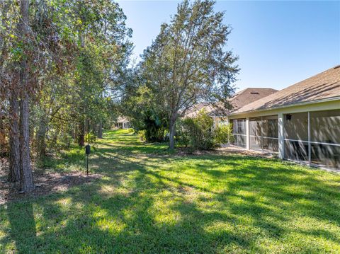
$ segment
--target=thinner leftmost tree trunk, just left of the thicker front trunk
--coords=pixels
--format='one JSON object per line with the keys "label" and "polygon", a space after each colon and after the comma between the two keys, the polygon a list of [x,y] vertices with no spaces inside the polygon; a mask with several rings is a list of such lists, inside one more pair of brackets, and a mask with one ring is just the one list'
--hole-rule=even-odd
{"label": "thinner leftmost tree trunk, just left of the thicker front trunk", "polygon": [[11,125],[9,129],[10,170],[8,180],[20,179],[20,143],[19,143],[19,103],[16,88],[11,91]]}

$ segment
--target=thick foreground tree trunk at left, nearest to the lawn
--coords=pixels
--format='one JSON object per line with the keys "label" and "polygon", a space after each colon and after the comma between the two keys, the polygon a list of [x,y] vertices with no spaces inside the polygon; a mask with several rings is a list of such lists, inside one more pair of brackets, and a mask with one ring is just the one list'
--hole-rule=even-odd
{"label": "thick foreground tree trunk at left, nearest to the lawn", "polygon": [[[28,0],[21,1],[21,35],[28,34]],[[28,95],[28,66],[26,59],[21,60],[20,83],[20,185],[22,192],[34,190],[32,168],[30,166],[30,129],[29,129],[29,95]]]}

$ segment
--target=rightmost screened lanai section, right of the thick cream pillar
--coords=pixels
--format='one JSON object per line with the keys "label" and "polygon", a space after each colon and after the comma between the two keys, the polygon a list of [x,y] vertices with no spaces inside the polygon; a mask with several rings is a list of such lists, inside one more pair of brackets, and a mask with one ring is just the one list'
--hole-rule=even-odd
{"label": "rightmost screened lanai section, right of the thick cream pillar", "polygon": [[340,110],[284,115],[284,158],[340,169]]}

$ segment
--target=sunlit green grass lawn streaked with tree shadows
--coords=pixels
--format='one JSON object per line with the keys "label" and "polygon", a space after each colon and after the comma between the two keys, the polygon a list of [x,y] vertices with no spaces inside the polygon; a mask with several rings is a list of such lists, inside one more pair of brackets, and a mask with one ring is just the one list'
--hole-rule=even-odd
{"label": "sunlit green grass lawn streaked with tree shadows", "polygon": [[[340,253],[338,174],[179,156],[121,130],[96,146],[91,171],[103,178],[1,205],[0,253]],[[51,166],[82,168],[81,153]]]}

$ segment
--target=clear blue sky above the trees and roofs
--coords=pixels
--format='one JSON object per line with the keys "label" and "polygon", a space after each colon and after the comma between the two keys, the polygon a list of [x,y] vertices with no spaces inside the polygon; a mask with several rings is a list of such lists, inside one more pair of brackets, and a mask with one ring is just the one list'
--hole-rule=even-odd
{"label": "clear blue sky above the trees and roofs", "polygon": [[[118,0],[132,28],[137,61],[169,23],[179,1]],[[340,64],[340,1],[217,1],[239,57],[234,85],[283,89]]]}

